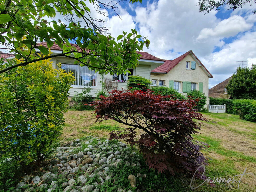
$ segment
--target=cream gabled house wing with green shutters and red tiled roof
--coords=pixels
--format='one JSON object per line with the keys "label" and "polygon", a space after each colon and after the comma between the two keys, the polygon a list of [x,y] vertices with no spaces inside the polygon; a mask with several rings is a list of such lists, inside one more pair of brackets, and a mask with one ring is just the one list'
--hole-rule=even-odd
{"label": "cream gabled house wing with green shutters and red tiled roof", "polygon": [[152,86],[167,86],[187,95],[197,89],[208,98],[208,80],[212,74],[201,63],[192,50],[174,60],[165,60],[164,64],[151,71]]}

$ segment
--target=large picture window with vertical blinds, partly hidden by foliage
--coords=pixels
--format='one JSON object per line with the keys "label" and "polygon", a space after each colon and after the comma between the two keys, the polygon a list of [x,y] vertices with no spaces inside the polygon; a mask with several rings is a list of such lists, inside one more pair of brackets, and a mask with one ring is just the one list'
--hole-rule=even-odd
{"label": "large picture window with vertical blinds, partly hidden by foliage", "polygon": [[73,73],[76,81],[73,86],[97,86],[97,73],[94,70],[90,70],[87,66],[81,67],[80,65],[73,64],[61,64],[61,69]]}

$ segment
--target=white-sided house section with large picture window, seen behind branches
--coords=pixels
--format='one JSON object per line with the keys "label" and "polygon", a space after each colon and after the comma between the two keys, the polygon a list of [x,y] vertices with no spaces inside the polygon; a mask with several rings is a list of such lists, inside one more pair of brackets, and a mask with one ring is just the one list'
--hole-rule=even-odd
{"label": "white-sided house section with large picture window, seen behind branches", "polygon": [[[47,47],[46,42],[42,42],[39,45]],[[61,53],[61,48],[54,44],[51,48],[51,52],[53,54]],[[36,49],[39,51],[39,49]],[[147,79],[150,79],[150,72],[159,67],[164,63],[165,60],[159,59],[153,55],[150,55],[147,52],[138,52],[142,56],[139,60],[139,65],[135,69],[128,69],[131,72],[131,75],[141,76]],[[54,68],[57,68],[57,64],[61,63],[61,68],[65,69],[66,71],[73,72],[73,76],[75,77],[76,81],[74,84],[71,85],[69,89],[70,97],[73,97],[76,92],[81,92],[83,88],[90,87],[92,88],[90,94],[92,97],[95,97],[96,93],[102,89],[101,87],[101,77],[98,72],[90,70],[87,66],[79,66],[74,65],[74,60],[69,59],[67,57],[56,57],[52,58],[51,61],[53,62],[52,65]],[[104,75],[104,79],[110,79],[117,83],[117,89],[120,90],[122,88],[127,89],[127,80],[129,79],[129,73],[120,74],[120,75],[111,75],[106,74]],[[75,92],[76,91],[76,92]]]}

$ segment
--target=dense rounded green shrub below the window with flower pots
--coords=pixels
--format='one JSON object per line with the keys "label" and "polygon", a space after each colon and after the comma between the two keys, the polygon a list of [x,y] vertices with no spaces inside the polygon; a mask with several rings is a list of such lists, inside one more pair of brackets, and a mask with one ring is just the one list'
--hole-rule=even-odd
{"label": "dense rounded green shrub below the window with flower pots", "polygon": [[127,87],[130,90],[146,91],[147,89],[149,89],[150,84],[151,84],[151,81],[144,77],[129,76]]}

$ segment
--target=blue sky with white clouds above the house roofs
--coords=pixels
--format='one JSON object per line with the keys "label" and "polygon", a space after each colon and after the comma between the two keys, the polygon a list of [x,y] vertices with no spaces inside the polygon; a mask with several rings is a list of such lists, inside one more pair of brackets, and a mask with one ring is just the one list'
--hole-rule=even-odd
{"label": "blue sky with white clouds above the house roofs", "polygon": [[[192,50],[214,78],[209,88],[232,76],[241,62],[250,67],[256,63],[256,4],[236,10],[222,7],[221,12],[204,15],[197,7],[198,0],[143,0],[141,3],[120,3],[108,9],[105,20],[113,37],[136,28],[147,36],[150,48],[146,51],[161,59],[175,59]],[[244,66],[245,66],[244,65]]]}

